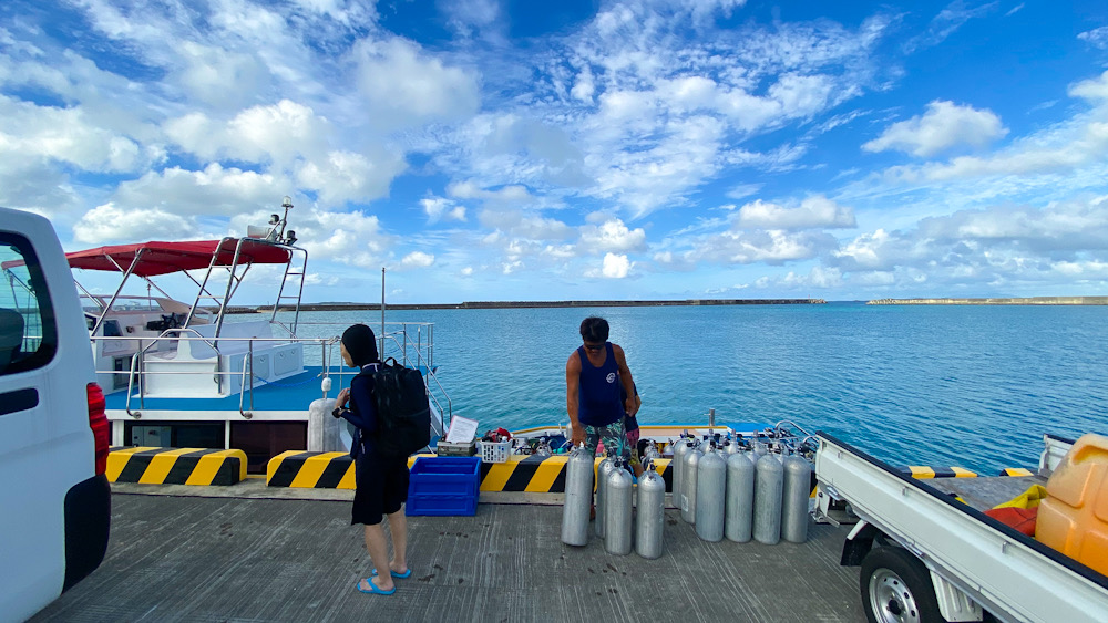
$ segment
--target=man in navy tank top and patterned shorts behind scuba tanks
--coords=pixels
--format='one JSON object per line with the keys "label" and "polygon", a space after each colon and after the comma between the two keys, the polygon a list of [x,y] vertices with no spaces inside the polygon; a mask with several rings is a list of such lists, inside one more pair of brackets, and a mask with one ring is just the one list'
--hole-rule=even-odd
{"label": "man in navy tank top and patterned shorts behind scuba tanks", "polygon": [[[581,323],[584,342],[565,364],[565,402],[573,428],[573,445],[584,442],[596,454],[603,442],[605,448],[630,458],[630,448],[624,437],[624,416],[634,417],[638,412],[635,401],[635,381],[627,367],[627,359],[619,346],[608,342],[608,321],[589,316]],[[620,388],[624,396],[620,399]]]}

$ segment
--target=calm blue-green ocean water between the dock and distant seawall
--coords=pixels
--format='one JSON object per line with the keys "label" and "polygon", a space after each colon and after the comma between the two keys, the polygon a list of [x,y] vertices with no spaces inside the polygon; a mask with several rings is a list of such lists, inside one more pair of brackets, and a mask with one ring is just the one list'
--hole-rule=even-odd
{"label": "calm blue-green ocean water between the dock and distant seawall", "polygon": [[[1108,434],[1108,308],[726,305],[387,311],[434,323],[453,413],[564,424],[587,315],[627,353],[644,424],[790,419],[894,465],[1037,465],[1044,433]],[[301,321],[379,326],[380,312]],[[302,333],[302,332],[301,332]]]}

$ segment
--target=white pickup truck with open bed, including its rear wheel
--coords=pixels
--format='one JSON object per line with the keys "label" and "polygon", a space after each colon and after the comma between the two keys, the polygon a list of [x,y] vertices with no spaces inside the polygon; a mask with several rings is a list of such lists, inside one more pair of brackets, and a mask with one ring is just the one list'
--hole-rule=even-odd
{"label": "white pickup truck with open bed, including its rear wheel", "polygon": [[856,522],[841,563],[862,567],[869,621],[1108,622],[1108,578],[982,512],[1045,484],[1071,440],[1046,436],[1038,474],[920,480],[817,437],[817,520]]}

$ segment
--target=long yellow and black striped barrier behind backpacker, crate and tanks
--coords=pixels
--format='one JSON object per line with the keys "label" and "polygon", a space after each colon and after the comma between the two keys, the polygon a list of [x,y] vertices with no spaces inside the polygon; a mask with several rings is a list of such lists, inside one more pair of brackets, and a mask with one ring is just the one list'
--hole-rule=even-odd
{"label": "long yellow and black striped barrier behind backpacker, crate and tanks", "polygon": [[[434,456],[434,455],[420,455]],[[519,491],[533,494],[565,492],[565,466],[568,457],[512,455],[505,463],[481,464],[482,491]],[[416,457],[408,458],[411,468]],[[594,465],[599,465],[596,459]],[[673,490],[669,459],[656,459],[654,465]],[[595,469],[595,467],[594,467]],[[353,489],[353,461],[347,453],[308,453],[289,450],[269,459],[266,484],[270,487],[309,489]]]}

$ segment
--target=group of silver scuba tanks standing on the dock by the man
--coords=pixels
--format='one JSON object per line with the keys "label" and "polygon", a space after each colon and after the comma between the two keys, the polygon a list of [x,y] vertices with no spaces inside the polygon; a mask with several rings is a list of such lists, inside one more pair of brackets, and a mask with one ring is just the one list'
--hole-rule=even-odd
{"label": "group of silver scuba tanks standing on the dock by the man", "polygon": [[[706,541],[725,537],[777,544],[808,539],[811,463],[794,439],[776,443],[698,439],[687,433],[674,444],[673,502],[681,519]],[[649,460],[656,453],[646,453]],[[562,542],[588,543],[593,498],[593,457],[574,448],[566,466]],[[643,558],[661,555],[666,484],[653,463],[638,478],[637,512],[632,511],[633,482],[618,457],[611,454],[596,469],[596,534],[608,553],[626,555],[634,543]],[[634,518],[634,520],[633,520]]]}

